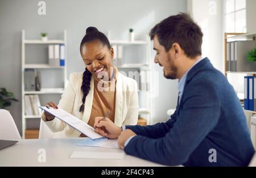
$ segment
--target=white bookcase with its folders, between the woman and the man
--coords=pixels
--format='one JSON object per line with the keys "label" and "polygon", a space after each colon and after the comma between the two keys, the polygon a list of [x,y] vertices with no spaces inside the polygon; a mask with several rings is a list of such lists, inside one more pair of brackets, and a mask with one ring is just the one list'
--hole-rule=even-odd
{"label": "white bookcase with its folders, between the woman and the man", "polygon": [[[151,79],[150,79],[150,52],[151,52],[151,40],[146,36],[145,41],[125,41],[125,40],[110,40],[110,44],[114,48],[115,57],[114,64],[118,67],[119,71],[123,74],[127,74],[127,77],[136,78],[138,82],[139,90],[139,115],[147,119],[147,124],[152,124],[151,121]],[[134,59],[131,51],[129,51],[129,57],[127,57],[126,49],[133,48],[134,51],[144,54],[144,58]],[[124,61],[124,59],[126,60]],[[128,59],[127,59],[128,58]],[[130,62],[132,61],[132,62]],[[136,62],[134,62],[136,61]],[[130,74],[133,74],[129,76]],[[139,75],[139,76],[137,76]]]}

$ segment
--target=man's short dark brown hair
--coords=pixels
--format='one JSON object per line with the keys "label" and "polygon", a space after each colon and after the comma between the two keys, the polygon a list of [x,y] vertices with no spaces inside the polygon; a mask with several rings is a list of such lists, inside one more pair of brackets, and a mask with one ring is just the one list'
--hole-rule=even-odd
{"label": "man's short dark brown hair", "polygon": [[151,40],[155,36],[166,51],[171,49],[172,44],[177,43],[188,57],[202,54],[203,33],[188,14],[180,13],[162,20],[150,31]]}

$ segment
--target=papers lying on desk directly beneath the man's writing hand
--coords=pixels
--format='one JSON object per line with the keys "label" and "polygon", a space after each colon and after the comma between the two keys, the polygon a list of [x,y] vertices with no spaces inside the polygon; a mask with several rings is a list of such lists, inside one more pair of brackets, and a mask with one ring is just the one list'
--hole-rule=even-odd
{"label": "papers lying on desk directly beneath the man's writing hand", "polygon": [[104,147],[109,149],[119,149],[117,144],[117,139],[97,139],[92,140],[89,138],[85,138],[83,141],[77,143],[78,146],[94,146],[94,147]]}

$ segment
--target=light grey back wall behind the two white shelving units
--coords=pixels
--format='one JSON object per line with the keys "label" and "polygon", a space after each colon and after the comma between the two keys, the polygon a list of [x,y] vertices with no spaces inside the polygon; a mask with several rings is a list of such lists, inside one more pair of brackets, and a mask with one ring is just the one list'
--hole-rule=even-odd
{"label": "light grey back wall behind the two white shelving units", "polygon": [[[34,0],[0,0],[0,87],[13,91],[21,100],[21,31],[26,29],[27,39],[39,39],[40,32],[48,32],[48,38],[61,38],[63,29],[68,32],[68,75],[84,70],[79,44],[85,29],[95,26],[102,32],[111,31],[112,39],[127,39],[128,29],[134,28],[135,39],[144,39],[150,28],[169,15],[185,12],[187,2],[176,0],[46,0],[46,15],[38,15],[38,2]],[[31,56],[46,60],[30,47]],[[35,47],[36,48],[36,47]],[[137,53],[136,53],[137,55]],[[138,52],[138,56],[141,55]],[[152,51],[153,63],[154,52]],[[177,80],[167,80],[159,71],[159,96],[152,99],[154,122],[167,119],[166,111],[175,108]],[[49,76],[51,78],[51,76]],[[55,81],[57,82],[57,81]],[[55,96],[56,97],[56,96]],[[59,96],[57,96],[57,99]],[[49,97],[49,100],[51,97]],[[44,103],[42,103],[44,104]],[[10,108],[21,131],[21,101]]]}

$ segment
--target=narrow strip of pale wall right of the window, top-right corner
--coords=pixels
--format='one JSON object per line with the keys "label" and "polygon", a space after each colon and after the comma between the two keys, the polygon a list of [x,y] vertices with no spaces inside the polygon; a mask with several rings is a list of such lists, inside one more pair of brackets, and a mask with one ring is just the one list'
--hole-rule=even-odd
{"label": "narrow strip of pale wall right of the window, top-right corner", "polygon": [[256,32],[256,1],[246,0],[246,27],[248,33]]}

